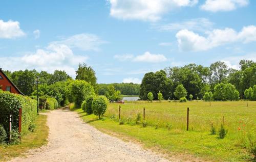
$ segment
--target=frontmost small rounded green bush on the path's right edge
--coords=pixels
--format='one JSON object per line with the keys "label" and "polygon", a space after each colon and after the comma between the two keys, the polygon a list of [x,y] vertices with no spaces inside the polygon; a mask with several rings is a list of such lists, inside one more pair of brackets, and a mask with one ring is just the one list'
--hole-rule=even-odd
{"label": "frontmost small rounded green bush on the path's right edge", "polygon": [[92,110],[95,115],[97,115],[100,119],[107,109],[108,106],[108,99],[104,96],[98,96],[93,99],[92,102]]}

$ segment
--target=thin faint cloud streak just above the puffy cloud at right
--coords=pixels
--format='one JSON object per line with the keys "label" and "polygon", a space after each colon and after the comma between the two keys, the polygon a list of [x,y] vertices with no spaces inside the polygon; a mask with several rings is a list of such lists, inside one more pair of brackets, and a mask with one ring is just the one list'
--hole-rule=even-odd
{"label": "thin faint cloud streak just above the puffy cloud at right", "polygon": [[156,28],[159,31],[178,31],[182,29],[207,31],[212,28],[212,25],[214,25],[214,23],[208,20],[207,18],[195,18],[183,22],[156,25],[153,26],[153,28]]}

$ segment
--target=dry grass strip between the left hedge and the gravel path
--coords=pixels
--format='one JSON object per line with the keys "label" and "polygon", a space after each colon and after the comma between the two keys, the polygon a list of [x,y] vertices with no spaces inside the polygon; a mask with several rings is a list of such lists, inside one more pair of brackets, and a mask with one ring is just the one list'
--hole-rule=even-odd
{"label": "dry grass strip between the left hedge and the gravel path", "polygon": [[47,144],[48,130],[47,116],[39,115],[36,119],[35,131],[29,132],[23,137],[22,143],[19,145],[0,145],[0,161],[23,155],[29,149]]}

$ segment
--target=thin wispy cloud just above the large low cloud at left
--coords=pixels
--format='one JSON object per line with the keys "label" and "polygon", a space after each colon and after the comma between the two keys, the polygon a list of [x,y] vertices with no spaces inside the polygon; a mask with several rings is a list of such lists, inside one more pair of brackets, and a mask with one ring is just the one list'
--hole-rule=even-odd
{"label": "thin wispy cloud just above the large low cloud at left", "polygon": [[52,42],[55,44],[66,44],[70,48],[79,48],[81,50],[94,50],[99,51],[99,46],[106,41],[101,40],[98,36],[94,34],[82,33],[71,36],[67,39],[63,39],[60,41]]}

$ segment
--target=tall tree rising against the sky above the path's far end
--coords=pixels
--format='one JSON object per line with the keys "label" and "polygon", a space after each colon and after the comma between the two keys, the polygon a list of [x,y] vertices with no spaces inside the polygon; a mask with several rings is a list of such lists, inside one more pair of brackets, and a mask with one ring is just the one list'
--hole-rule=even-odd
{"label": "tall tree rising against the sky above the path's far end", "polygon": [[76,71],[76,79],[85,80],[93,87],[96,85],[97,78],[95,76],[95,71],[91,66],[87,66],[86,64],[79,64],[78,69]]}

